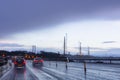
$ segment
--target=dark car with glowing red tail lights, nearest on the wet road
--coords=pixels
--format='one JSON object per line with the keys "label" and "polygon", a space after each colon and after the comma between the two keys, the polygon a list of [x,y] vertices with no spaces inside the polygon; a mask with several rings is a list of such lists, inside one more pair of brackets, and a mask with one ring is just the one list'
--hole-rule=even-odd
{"label": "dark car with glowing red tail lights, nearest on the wet road", "polygon": [[14,66],[15,68],[25,68],[26,61],[24,58],[18,57],[14,60]]}

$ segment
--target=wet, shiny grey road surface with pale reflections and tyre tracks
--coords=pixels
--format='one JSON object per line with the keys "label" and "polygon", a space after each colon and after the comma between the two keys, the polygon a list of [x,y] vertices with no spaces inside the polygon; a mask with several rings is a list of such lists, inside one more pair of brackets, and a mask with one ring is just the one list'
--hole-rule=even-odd
{"label": "wet, shiny grey road surface with pale reflections and tyre tracks", "polygon": [[0,80],[120,80],[120,65],[87,64],[85,75],[83,63],[68,63],[68,69],[64,62],[45,61],[43,66],[32,66],[27,61],[26,68],[9,71],[9,74]]}

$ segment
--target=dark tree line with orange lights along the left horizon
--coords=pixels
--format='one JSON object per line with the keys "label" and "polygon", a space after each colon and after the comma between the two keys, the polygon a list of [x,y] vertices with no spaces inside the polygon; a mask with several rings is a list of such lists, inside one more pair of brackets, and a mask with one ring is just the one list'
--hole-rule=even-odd
{"label": "dark tree line with orange lights along the left horizon", "polygon": [[5,51],[0,50],[0,56],[11,57],[11,56],[22,56],[25,59],[34,59],[35,57],[41,57],[45,60],[66,60],[66,57],[60,53],[40,51],[40,53],[33,53],[28,51]]}

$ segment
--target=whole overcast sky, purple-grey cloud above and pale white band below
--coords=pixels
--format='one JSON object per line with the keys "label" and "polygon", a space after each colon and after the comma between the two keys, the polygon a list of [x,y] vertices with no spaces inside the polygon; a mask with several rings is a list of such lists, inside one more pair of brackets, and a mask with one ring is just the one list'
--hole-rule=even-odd
{"label": "whole overcast sky, purple-grey cloud above and pale white band below", "polygon": [[0,0],[1,47],[62,49],[66,33],[70,51],[120,48],[120,0]]}

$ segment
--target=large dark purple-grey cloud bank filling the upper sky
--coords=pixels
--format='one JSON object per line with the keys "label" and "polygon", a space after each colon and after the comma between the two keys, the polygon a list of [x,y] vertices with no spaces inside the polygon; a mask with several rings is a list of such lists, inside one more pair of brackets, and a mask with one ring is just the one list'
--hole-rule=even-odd
{"label": "large dark purple-grey cloud bank filling the upper sky", "polygon": [[0,37],[80,19],[120,19],[110,13],[119,8],[120,0],[0,0]]}

